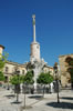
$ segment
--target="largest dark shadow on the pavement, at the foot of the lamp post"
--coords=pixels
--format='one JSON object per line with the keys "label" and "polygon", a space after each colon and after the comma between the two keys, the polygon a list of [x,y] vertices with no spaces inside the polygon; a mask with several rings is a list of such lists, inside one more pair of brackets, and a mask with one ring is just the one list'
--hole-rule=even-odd
{"label": "largest dark shadow on the pavement, at the foot of the lamp post", "polygon": [[73,103],[69,103],[69,102],[51,102],[51,103],[46,103],[46,105],[49,107],[53,107],[53,108],[61,108],[61,109],[73,109]]}

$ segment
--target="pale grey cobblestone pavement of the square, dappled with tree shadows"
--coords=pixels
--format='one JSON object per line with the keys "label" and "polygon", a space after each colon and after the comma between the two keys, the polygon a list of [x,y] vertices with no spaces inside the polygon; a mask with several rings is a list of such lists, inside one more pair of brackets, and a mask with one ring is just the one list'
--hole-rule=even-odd
{"label": "pale grey cobblestone pavement of the square, dappled with tree shadows", "polygon": [[[73,111],[73,91],[62,90],[60,92],[60,103],[56,102],[56,93],[45,94],[27,94],[27,109],[24,95],[19,95],[20,103],[15,103],[14,93],[11,90],[0,89],[0,111]],[[31,108],[30,108],[31,107]]]}

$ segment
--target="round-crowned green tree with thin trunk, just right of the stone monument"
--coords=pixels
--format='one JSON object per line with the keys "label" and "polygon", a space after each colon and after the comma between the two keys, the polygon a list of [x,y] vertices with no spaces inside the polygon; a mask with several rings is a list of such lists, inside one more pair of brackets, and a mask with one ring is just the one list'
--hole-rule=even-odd
{"label": "round-crowned green tree with thin trunk, just right of the stone monument", "polygon": [[45,84],[50,84],[52,81],[53,81],[53,77],[50,74],[50,72],[41,73],[38,77],[36,82],[44,85],[43,87],[43,97],[44,97]]}

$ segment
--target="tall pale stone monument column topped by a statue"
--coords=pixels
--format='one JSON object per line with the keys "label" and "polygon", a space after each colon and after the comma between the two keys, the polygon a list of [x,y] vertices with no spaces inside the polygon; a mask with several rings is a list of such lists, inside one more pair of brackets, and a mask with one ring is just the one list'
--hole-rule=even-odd
{"label": "tall pale stone monument column topped by a statue", "polygon": [[33,24],[33,41],[31,43],[31,54],[30,54],[30,62],[32,65],[33,72],[34,72],[34,91],[36,92],[36,79],[38,75],[41,73],[42,70],[42,60],[40,58],[40,43],[36,42],[35,37],[35,14],[32,16],[32,24]]}

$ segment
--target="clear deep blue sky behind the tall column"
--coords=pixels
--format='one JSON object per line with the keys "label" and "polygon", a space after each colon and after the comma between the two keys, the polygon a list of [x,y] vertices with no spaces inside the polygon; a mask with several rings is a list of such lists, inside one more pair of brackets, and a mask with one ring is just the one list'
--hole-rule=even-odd
{"label": "clear deep blue sky behind the tall column", "polygon": [[9,60],[30,60],[33,13],[41,58],[53,65],[59,56],[73,53],[73,0],[0,0],[0,44]]}

